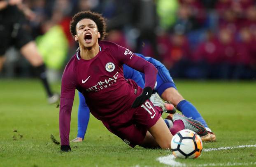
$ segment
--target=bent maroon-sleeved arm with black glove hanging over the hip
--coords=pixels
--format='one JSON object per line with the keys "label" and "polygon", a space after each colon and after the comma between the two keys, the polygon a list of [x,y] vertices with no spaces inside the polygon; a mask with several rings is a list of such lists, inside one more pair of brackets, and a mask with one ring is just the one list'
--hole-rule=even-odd
{"label": "bent maroon-sleeved arm with black glove hanging over the hip", "polygon": [[151,96],[156,83],[156,74],[158,71],[153,64],[142,59],[136,54],[133,54],[133,52],[130,50],[119,45],[116,45],[116,47],[118,50],[116,59],[119,61],[119,63],[126,64],[131,68],[145,74],[145,88],[143,89],[142,94],[135,99],[132,105],[133,108],[136,108],[143,104]]}

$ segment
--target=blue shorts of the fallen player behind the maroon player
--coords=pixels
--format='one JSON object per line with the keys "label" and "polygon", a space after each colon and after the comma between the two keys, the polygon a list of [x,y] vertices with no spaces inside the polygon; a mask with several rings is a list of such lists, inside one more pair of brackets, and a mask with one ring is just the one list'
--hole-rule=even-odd
{"label": "blue shorts of the fallen player behind the maroon player", "polygon": [[154,91],[161,96],[165,91],[165,89],[167,88],[171,87],[177,90],[176,85],[167,68],[163,66],[161,68],[157,68],[157,70],[158,70],[158,73],[156,76],[156,85],[154,87]]}

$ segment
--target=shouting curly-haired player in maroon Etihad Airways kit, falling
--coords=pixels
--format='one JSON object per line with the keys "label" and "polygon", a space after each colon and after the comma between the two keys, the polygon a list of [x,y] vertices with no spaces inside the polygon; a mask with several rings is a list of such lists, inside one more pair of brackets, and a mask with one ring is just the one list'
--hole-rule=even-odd
{"label": "shouting curly-haired player in maroon Etihad Airways kit, falling", "polygon": [[[71,150],[70,116],[75,89],[84,95],[91,113],[131,147],[168,149],[172,134],[184,128],[206,135],[207,131],[200,122],[188,121],[179,114],[175,114],[174,125],[168,129],[161,117],[161,113],[168,110],[168,104],[156,94],[151,97],[157,69],[130,50],[101,41],[105,37],[105,29],[105,19],[91,11],[77,13],[70,23],[70,32],[79,43],[80,51],[67,63],[61,82],[61,150]],[[124,63],[144,72],[144,89],[123,77]]]}

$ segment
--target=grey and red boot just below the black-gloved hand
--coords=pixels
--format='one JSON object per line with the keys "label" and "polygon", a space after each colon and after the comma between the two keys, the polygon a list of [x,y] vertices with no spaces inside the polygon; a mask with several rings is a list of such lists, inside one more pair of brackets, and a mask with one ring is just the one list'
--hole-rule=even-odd
{"label": "grey and red boot just below the black-gloved hand", "polygon": [[176,112],[175,107],[170,102],[163,102],[163,100],[157,93],[154,93],[153,95],[151,95],[149,100],[154,104],[154,106],[161,107],[163,112],[165,112],[165,113],[175,113]]}

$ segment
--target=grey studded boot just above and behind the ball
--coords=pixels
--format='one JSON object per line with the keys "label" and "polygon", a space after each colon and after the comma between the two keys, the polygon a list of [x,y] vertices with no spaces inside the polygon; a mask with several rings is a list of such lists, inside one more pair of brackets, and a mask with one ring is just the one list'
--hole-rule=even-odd
{"label": "grey studded boot just above and behind the ball", "polygon": [[179,113],[173,115],[172,119],[173,122],[177,120],[182,120],[182,122],[184,123],[184,129],[190,129],[200,136],[207,135],[207,130],[205,129],[205,126],[203,126],[199,121],[192,120]]}

